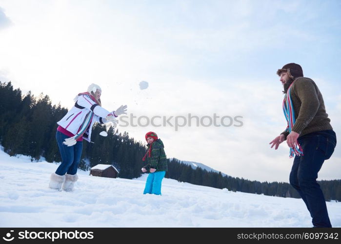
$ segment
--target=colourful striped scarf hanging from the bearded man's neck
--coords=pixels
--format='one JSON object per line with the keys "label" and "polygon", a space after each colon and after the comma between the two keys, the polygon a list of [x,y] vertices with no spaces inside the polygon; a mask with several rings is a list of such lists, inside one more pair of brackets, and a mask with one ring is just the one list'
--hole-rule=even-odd
{"label": "colourful striped scarf hanging from the bearded man's neck", "polygon": [[[293,106],[291,96],[290,96],[290,90],[291,90],[292,84],[289,86],[288,91],[286,92],[284,100],[283,100],[283,112],[284,112],[285,119],[288,122],[288,126],[286,127],[285,131],[287,131],[289,133],[291,132],[291,130],[295,124],[295,111],[294,111],[294,106]],[[302,156],[303,155],[303,149],[302,149],[300,143],[297,142],[297,144],[298,144],[298,146],[295,146],[294,148],[290,148],[289,158],[292,158],[295,155],[296,156]]]}

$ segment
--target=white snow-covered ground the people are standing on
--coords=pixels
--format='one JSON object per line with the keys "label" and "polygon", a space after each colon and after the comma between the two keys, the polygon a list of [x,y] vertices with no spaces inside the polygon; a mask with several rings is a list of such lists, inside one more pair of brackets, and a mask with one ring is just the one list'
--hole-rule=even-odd
{"label": "white snow-covered ground the people are standing on", "polygon": [[[269,197],[164,179],[143,195],[147,175],[109,179],[79,171],[75,191],[48,188],[55,163],[0,150],[0,227],[310,227],[301,199]],[[327,203],[341,227],[341,203]]]}

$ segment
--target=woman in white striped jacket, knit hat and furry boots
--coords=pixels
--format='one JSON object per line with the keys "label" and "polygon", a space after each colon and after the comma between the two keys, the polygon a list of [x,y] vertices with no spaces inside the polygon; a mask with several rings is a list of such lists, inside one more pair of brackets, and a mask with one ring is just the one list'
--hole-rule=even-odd
{"label": "woman in white striped jacket, knit hat and furry boots", "polygon": [[82,152],[82,140],[90,142],[92,126],[95,122],[117,124],[117,117],[126,114],[126,105],[109,112],[101,107],[101,89],[91,84],[87,92],[80,93],[74,99],[75,105],[57,122],[59,124],[56,139],[61,156],[61,164],[51,174],[49,187],[72,191],[78,180],[77,169]]}

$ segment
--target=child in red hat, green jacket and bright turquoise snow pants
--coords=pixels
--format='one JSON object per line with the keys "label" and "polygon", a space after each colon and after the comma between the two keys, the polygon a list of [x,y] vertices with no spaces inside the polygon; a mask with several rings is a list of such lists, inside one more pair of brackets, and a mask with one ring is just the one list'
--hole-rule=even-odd
{"label": "child in red hat, green jacket and bright turquoise snow pants", "polygon": [[152,131],[145,135],[145,139],[148,143],[148,150],[142,160],[145,161],[147,157],[148,164],[141,170],[146,172],[149,169],[150,174],[148,175],[143,194],[161,195],[161,182],[168,170],[163,142]]}

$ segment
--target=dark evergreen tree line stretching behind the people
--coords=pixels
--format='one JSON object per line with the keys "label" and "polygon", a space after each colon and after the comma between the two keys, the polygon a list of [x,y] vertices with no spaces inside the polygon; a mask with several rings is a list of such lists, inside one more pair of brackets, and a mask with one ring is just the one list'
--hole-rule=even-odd
{"label": "dark evergreen tree line stretching behind the people", "polygon": [[[0,144],[10,156],[17,154],[38,161],[60,162],[60,153],[55,139],[57,122],[67,113],[60,104],[52,105],[47,95],[35,97],[28,92],[14,89],[11,82],[0,81]],[[101,131],[108,136],[100,136]],[[80,169],[89,170],[99,163],[114,165],[120,178],[133,179],[141,176],[145,164],[142,157],[146,151],[145,143],[130,138],[127,132],[120,133],[113,127],[95,124],[91,141],[83,142]],[[222,176],[222,174],[181,163],[177,159],[168,160],[166,178],[197,185],[227,188],[267,196],[300,198],[289,183],[258,182],[243,178]],[[341,180],[319,181],[327,201],[341,201]]]}

